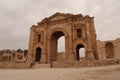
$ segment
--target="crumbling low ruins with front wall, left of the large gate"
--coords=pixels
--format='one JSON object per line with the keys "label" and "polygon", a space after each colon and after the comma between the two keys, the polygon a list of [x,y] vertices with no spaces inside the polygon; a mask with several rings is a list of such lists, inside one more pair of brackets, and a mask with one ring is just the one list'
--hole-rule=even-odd
{"label": "crumbling low ruins with front wall, left of the large gate", "polygon": [[9,49],[0,50],[0,68],[26,68],[26,59],[25,52]]}

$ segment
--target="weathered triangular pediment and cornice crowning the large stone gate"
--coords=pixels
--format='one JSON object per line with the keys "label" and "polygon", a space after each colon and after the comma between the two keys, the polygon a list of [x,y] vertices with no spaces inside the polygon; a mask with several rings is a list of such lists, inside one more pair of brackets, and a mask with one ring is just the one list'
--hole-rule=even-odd
{"label": "weathered triangular pediment and cornice crowning the large stone gate", "polygon": [[[52,20],[57,16],[62,16],[63,18]],[[70,13],[59,13],[59,12],[57,12],[50,17],[44,18],[41,22],[38,22],[37,25],[43,27],[43,25],[45,25],[45,24],[46,25],[48,25],[48,24],[58,24],[58,23],[69,22],[69,21],[74,22],[76,20],[78,20],[78,21],[82,21],[82,20],[89,21],[90,19],[93,19],[93,18],[94,17],[90,17],[89,15],[83,16],[82,14],[74,15],[74,14],[70,14]]]}

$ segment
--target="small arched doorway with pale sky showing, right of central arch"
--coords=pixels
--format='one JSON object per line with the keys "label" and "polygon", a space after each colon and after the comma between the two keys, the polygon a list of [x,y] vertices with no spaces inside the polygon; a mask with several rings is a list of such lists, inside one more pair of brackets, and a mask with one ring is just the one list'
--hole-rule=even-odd
{"label": "small arched doorway with pale sky showing, right of central arch", "polygon": [[85,59],[85,48],[82,44],[76,46],[76,60]]}

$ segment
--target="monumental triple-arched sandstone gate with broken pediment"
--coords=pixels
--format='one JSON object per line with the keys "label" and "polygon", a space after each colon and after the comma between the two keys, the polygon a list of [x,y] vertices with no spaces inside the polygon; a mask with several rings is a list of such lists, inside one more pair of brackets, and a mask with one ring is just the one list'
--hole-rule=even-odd
{"label": "monumental triple-arched sandstone gate with broken pediment", "polygon": [[28,61],[50,63],[58,60],[57,40],[65,36],[61,61],[79,61],[79,49],[85,48],[85,59],[98,59],[94,18],[81,14],[56,13],[33,25],[30,31]]}

